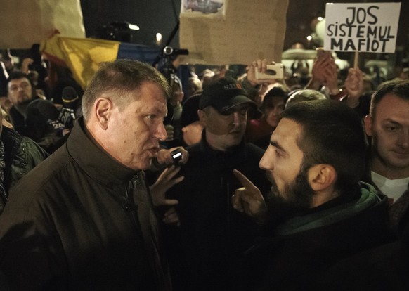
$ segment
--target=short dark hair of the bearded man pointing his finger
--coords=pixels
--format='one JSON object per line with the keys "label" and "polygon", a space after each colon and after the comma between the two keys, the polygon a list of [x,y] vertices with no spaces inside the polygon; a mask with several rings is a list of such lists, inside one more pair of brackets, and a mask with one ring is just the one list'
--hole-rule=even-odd
{"label": "short dark hair of the bearded man pointing his finger", "polygon": [[368,143],[355,111],[339,101],[316,100],[294,104],[282,117],[302,127],[297,145],[304,153],[303,165],[335,168],[335,190],[348,193],[363,178]]}

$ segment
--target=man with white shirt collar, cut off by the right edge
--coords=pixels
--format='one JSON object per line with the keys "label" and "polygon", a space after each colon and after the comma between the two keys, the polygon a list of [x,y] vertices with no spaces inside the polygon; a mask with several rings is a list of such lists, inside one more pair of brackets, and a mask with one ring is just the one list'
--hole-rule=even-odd
{"label": "man with white shirt collar, cut off by the right edge", "polygon": [[400,235],[409,219],[409,81],[384,82],[373,93],[365,131],[372,136],[371,179],[389,198],[389,218]]}

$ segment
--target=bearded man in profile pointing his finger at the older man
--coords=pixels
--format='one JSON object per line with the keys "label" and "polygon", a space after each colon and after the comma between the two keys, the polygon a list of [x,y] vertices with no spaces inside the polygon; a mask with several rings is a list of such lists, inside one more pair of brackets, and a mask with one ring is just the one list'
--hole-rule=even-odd
{"label": "bearded man in profile pointing his finger at the older man", "polygon": [[259,164],[271,181],[266,202],[235,171],[244,186],[235,209],[261,220],[268,205],[271,214],[268,238],[247,252],[251,283],[243,290],[303,290],[339,259],[387,240],[387,199],[359,182],[365,148],[361,119],[342,103],[284,110]]}

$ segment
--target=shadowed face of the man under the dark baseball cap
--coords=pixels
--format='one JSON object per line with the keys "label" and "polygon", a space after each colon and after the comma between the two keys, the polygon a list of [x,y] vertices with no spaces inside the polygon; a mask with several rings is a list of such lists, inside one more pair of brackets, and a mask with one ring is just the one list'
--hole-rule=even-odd
{"label": "shadowed face of the man under the dark baseball cap", "polygon": [[248,104],[240,104],[224,112],[218,112],[212,106],[199,110],[210,147],[226,151],[238,145],[245,134],[248,109]]}

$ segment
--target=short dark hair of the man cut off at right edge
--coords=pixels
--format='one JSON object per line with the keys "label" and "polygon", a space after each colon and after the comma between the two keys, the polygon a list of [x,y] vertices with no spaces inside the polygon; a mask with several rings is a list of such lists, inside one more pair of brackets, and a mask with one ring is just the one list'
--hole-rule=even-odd
{"label": "short dark hair of the man cut off at right edge", "polygon": [[409,101],[409,80],[393,79],[380,84],[370,100],[370,117],[375,117],[377,105],[389,93]]}

